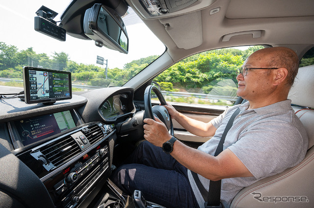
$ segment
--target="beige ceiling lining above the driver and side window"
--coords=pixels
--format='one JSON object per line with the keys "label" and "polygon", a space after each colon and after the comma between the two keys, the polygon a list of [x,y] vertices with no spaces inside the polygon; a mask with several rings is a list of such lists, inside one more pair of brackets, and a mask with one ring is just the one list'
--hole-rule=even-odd
{"label": "beige ceiling lining above the driver and side window", "polygon": [[[127,1],[167,46],[174,62],[209,49],[246,45],[288,46],[302,57],[314,44],[313,0],[216,0],[209,6],[211,1],[198,0],[172,17],[155,19],[141,15],[138,0]],[[220,11],[209,15],[217,7]],[[222,42],[224,35],[252,30],[261,37],[236,35]]]}

